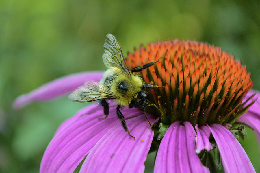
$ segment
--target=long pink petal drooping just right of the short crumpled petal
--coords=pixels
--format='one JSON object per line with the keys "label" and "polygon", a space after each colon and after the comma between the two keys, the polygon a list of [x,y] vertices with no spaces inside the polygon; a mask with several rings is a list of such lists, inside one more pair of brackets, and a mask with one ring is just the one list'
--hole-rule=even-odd
{"label": "long pink petal drooping just right of the short crumpled petal", "polygon": [[208,127],[217,143],[226,173],[255,172],[245,150],[229,130],[220,124],[211,124]]}

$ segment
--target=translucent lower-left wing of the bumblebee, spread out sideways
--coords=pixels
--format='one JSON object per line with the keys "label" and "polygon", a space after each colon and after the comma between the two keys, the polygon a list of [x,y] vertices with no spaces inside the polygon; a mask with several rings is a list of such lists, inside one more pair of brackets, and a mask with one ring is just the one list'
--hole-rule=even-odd
{"label": "translucent lower-left wing of the bumblebee, spread out sideways", "polygon": [[88,81],[75,89],[68,98],[73,102],[92,102],[101,99],[114,99],[115,96],[99,82]]}

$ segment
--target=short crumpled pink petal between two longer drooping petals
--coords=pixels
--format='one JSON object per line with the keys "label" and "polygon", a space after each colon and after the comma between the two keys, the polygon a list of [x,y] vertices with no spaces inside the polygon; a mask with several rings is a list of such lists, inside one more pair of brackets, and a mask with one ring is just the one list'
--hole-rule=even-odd
{"label": "short crumpled pink petal between two longer drooping petals", "polygon": [[198,128],[198,124],[195,126],[196,130],[196,153],[200,153],[202,150],[210,151],[213,149],[211,143],[209,142],[210,130],[207,126],[202,126]]}

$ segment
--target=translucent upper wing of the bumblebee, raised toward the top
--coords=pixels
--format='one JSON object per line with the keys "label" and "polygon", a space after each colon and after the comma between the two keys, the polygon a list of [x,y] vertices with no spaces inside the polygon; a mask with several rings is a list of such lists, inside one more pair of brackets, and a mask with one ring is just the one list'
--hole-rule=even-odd
{"label": "translucent upper wing of the bumblebee, raised toward the top", "polygon": [[116,70],[121,73],[125,73],[131,76],[127,65],[125,64],[125,59],[121,50],[121,47],[116,40],[115,36],[112,34],[107,34],[104,43],[105,53],[103,54],[103,62],[107,68],[115,67]]}

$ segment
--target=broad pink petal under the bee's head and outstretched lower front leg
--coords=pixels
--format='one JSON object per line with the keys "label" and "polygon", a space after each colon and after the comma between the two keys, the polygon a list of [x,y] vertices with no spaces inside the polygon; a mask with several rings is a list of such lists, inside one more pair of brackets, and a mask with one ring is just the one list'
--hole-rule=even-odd
{"label": "broad pink petal under the bee's head and outstretched lower front leg", "polygon": [[[152,123],[153,117],[148,118]],[[126,123],[135,140],[117,124],[90,151],[80,172],[144,172],[154,132],[148,128],[145,116],[126,120]]]}

